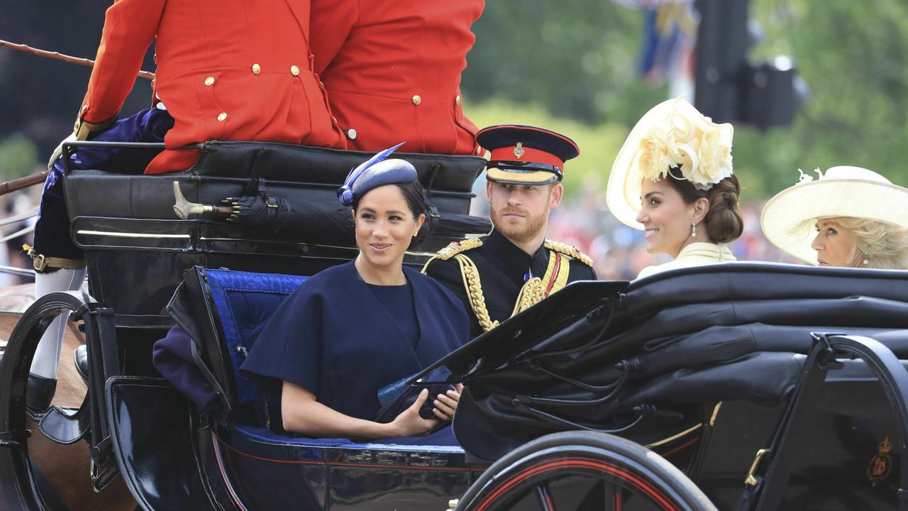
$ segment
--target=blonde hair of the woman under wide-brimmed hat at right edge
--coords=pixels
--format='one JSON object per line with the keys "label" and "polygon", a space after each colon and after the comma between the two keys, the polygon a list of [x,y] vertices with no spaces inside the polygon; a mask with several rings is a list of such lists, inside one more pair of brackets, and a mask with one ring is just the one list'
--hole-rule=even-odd
{"label": "blonde hair of the woman under wide-brimmed hat at right edge", "polygon": [[[854,235],[851,266],[908,270],[908,229],[854,216],[841,216],[836,220]],[[864,261],[867,261],[866,265]]]}

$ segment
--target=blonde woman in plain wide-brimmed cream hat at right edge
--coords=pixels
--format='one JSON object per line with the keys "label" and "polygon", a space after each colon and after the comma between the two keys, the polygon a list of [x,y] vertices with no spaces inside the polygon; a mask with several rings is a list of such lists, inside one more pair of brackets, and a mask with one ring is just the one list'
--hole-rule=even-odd
{"label": "blonde woman in plain wide-brimmed cream hat at right edge", "polygon": [[811,265],[908,269],[908,189],[857,166],[816,172],[766,203],[766,238]]}

